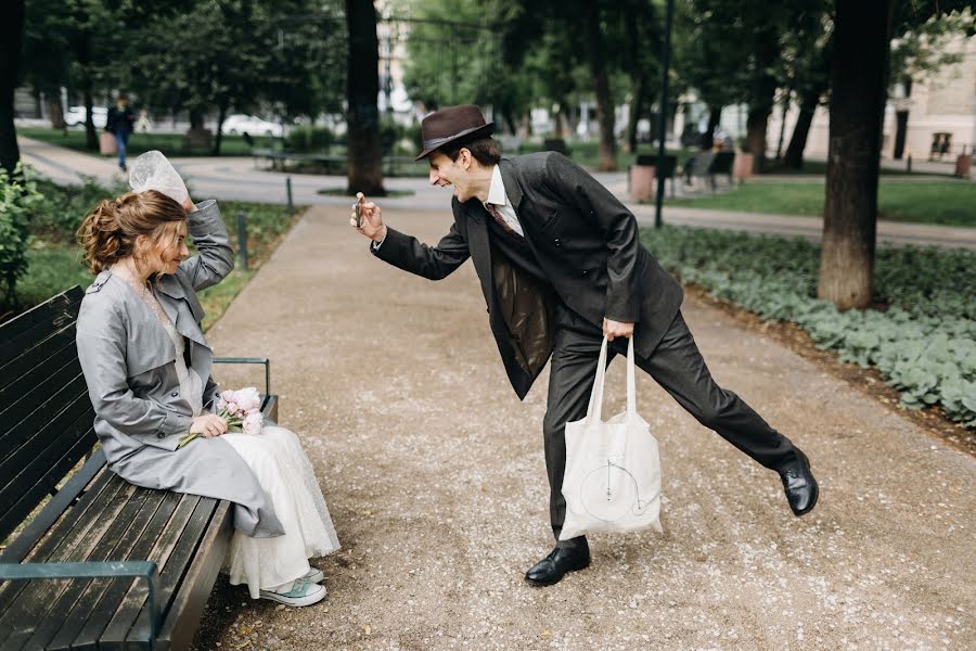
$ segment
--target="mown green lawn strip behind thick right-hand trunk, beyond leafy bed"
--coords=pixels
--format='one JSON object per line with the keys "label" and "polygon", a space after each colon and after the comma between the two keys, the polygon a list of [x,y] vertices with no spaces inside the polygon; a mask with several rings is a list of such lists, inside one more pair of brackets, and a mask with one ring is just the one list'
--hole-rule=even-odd
{"label": "mown green lawn strip behind thick right-hand trunk, beyond leafy bed", "polygon": [[[716,210],[821,216],[824,183],[744,183],[728,192],[667,203]],[[882,179],[878,219],[976,228],[976,183]]]}

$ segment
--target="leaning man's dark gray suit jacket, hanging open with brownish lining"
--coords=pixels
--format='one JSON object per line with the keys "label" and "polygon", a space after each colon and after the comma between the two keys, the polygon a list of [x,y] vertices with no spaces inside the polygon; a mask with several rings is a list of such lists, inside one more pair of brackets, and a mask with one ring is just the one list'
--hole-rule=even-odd
{"label": "leaning man's dark gray suit jacket, hanging open with brownish lining", "polygon": [[650,357],[678,314],[681,285],[644,248],[630,213],[599,181],[555,152],[504,158],[505,194],[551,288],[491,245],[481,202],[452,202],[454,224],[436,246],[387,227],[373,253],[439,280],[468,257],[481,283],[491,332],[519,398],[552,353],[561,301],[598,328],[633,321],[634,349]]}

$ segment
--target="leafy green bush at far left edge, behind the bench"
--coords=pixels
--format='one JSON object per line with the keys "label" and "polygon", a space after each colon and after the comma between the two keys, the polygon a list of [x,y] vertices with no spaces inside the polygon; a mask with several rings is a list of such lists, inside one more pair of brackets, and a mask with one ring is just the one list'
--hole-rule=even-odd
{"label": "leafy green bush at far left edge, behind the bench", "polygon": [[43,203],[20,164],[11,175],[0,167],[0,308],[16,305],[16,285],[27,272],[30,220]]}

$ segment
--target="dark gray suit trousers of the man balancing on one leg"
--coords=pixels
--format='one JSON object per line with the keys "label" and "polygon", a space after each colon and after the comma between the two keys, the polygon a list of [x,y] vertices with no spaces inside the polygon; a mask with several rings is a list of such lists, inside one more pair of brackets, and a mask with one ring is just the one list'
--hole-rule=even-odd
{"label": "dark gray suit trousers of the man balancing on one leg", "polygon": [[[552,531],[558,540],[566,518],[563,474],[566,470],[566,423],[587,413],[603,332],[564,305],[558,306],[556,339],[549,378],[549,398],[542,425],[545,467],[550,485]],[[627,340],[611,342],[607,363],[627,356]],[[668,328],[654,353],[637,357],[637,366],[648,373],[698,422],[717,432],[736,448],[772,470],[796,459],[788,438],[773,430],[742,398],[716,384],[705,366],[681,312]],[[583,538],[560,542],[582,545]]]}

